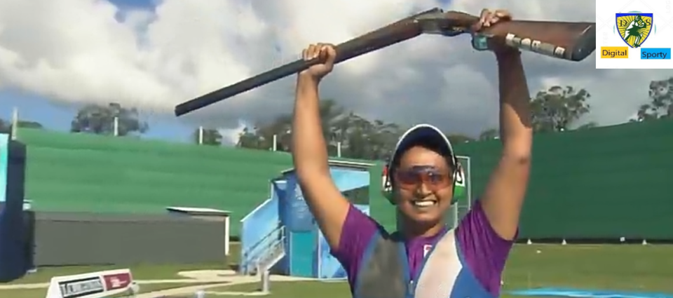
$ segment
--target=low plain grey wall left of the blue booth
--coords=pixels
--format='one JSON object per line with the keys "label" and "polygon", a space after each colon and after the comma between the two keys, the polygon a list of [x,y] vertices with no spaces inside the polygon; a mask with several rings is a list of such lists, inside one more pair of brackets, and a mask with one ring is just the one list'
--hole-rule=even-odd
{"label": "low plain grey wall left of the blue booth", "polygon": [[26,214],[37,266],[226,262],[224,217]]}

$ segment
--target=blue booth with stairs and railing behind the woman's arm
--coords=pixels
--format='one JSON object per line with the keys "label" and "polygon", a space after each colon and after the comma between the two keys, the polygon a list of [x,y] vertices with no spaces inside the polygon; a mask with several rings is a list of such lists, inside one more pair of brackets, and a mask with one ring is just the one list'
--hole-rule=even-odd
{"label": "blue booth with stairs and railing behind the woman's arm", "polygon": [[[342,192],[369,189],[369,166],[331,162],[330,172]],[[356,202],[355,206],[369,214],[367,203]],[[329,246],[308,210],[294,170],[287,170],[271,181],[270,198],[243,218],[241,229],[242,273],[252,273],[255,262],[273,255],[273,248],[282,245],[283,257],[273,267],[276,273],[311,278],[346,277],[341,264],[329,254]]]}

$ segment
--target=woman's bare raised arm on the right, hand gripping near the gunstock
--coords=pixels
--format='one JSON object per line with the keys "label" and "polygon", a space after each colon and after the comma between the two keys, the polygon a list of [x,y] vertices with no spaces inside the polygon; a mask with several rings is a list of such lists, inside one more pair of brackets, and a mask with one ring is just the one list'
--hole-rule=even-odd
{"label": "woman's bare raised arm on the right, hand gripping near the gunstock", "polygon": [[[505,11],[486,13],[492,22],[506,20]],[[491,23],[492,23],[491,22]],[[484,26],[488,26],[485,22]],[[493,229],[502,238],[515,238],[519,215],[531,170],[533,130],[529,109],[530,93],[518,50],[494,49],[498,61],[500,89],[500,140],[503,151],[482,196],[482,207]]]}

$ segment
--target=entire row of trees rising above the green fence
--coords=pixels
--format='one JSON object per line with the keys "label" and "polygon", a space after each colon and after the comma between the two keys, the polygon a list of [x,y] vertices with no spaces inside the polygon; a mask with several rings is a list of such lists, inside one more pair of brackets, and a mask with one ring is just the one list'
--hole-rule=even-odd
{"label": "entire row of trees rising above the green fence", "polygon": [[[591,94],[583,88],[553,86],[531,96],[531,121],[536,133],[553,133],[564,130],[583,130],[597,123],[578,125],[578,120],[591,111],[587,103]],[[673,76],[661,81],[651,81],[648,102],[642,104],[631,121],[652,121],[673,118]],[[337,100],[320,102],[322,128],[330,156],[362,159],[384,159],[390,155],[397,138],[406,130],[397,123],[368,119],[355,111],[347,111]],[[116,119],[116,120],[115,120]],[[12,123],[0,119],[0,132],[11,131]],[[20,128],[43,128],[36,121],[18,121]],[[71,121],[72,133],[97,135],[140,136],[149,130],[140,113],[132,107],[109,103],[88,104],[77,111]],[[292,115],[283,114],[271,121],[255,123],[240,133],[236,147],[290,151]],[[489,128],[478,136],[445,132],[454,143],[491,140],[498,137],[497,128]],[[275,136],[275,137],[274,137]],[[195,143],[219,146],[222,134],[214,128],[196,128],[191,139]],[[274,146],[273,142],[276,141]],[[340,151],[340,152],[338,152]]]}

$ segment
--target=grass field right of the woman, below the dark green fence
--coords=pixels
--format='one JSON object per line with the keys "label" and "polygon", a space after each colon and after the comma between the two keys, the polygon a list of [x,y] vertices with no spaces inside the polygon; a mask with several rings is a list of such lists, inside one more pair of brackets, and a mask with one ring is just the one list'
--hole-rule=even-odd
{"label": "grass field right of the woman, below the dark green fence", "polygon": [[505,268],[505,289],[673,293],[672,254],[673,245],[517,245]]}

